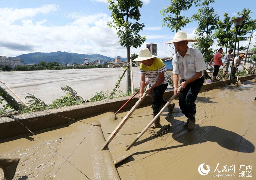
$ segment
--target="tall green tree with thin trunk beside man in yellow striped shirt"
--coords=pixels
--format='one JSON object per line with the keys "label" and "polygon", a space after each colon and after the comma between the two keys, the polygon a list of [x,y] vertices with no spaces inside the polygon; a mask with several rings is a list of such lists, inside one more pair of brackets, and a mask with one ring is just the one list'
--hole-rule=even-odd
{"label": "tall green tree with thin trunk beside man in yellow striped shirt", "polygon": [[[113,18],[112,22],[108,22],[108,26],[117,30],[119,43],[126,47],[127,63],[130,63],[130,48],[137,48],[146,40],[145,36],[139,35],[144,28],[144,24],[138,22],[139,8],[143,3],[140,0],[108,0],[108,3]],[[127,70],[126,91],[131,91],[130,68]]]}

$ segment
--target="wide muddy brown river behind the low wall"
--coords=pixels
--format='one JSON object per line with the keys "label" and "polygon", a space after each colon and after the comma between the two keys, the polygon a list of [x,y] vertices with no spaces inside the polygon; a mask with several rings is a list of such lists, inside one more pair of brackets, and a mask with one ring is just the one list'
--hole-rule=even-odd
{"label": "wide muddy brown river behind the low wall", "polygon": [[[0,72],[4,81],[23,101],[28,93],[35,95],[46,104],[64,96],[61,87],[73,88],[77,94],[89,100],[99,91],[112,91],[124,68],[95,68],[70,70],[40,70]],[[134,87],[139,87],[139,67],[133,67]],[[1,87],[5,86],[1,84]],[[5,88],[7,89],[7,88]],[[126,77],[123,77],[117,91],[126,91]],[[8,91],[10,94],[11,92]],[[12,95],[12,94],[11,94]],[[12,95],[14,97],[14,95]]]}

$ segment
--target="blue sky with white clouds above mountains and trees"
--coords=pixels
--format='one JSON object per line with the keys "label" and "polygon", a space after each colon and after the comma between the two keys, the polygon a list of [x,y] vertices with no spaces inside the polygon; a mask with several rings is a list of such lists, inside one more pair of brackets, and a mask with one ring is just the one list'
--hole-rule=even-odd
{"label": "blue sky with white clouds above mountains and trees", "polygon": [[[174,50],[164,42],[171,40],[174,32],[162,27],[163,17],[159,13],[170,1],[143,0],[143,3],[140,13],[145,29],[140,34],[146,36],[146,42],[141,48],[148,43],[157,43],[159,57],[171,56],[169,50]],[[238,0],[215,0],[211,6],[221,19],[225,12],[229,16],[237,16],[236,13],[243,8],[251,9],[251,18],[256,19],[255,1],[244,0],[242,4]],[[182,14],[191,17],[197,13],[197,9],[192,7]],[[0,11],[0,55],[17,56],[59,50],[126,57],[126,48],[118,44],[114,29],[106,25],[111,21],[106,0],[0,0]],[[182,30],[187,32],[189,38],[193,38],[197,25],[197,22],[192,22]],[[241,44],[248,45],[248,42]],[[213,48],[219,47],[214,43]],[[138,50],[131,49],[131,52],[137,53]]]}

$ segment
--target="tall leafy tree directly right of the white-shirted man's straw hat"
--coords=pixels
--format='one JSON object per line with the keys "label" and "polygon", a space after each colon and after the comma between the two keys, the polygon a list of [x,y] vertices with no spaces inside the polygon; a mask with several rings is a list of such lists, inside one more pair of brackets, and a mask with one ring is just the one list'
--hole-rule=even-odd
{"label": "tall leafy tree directly right of the white-shirted man's straw hat", "polygon": [[213,49],[211,46],[214,43],[212,37],[212,31],[216,28],[219,17],[214,8],[210,8],[210,3],[214,3],[214,0],[205,0],[200,4],[201,8],[198,9],[198,13],[194,14],[192,18],[198,21],[198,28],[195,30],[195,34],[198,35],[195,39],[198,41],[192,46],[196,47],[204,55],[204,61],[209,62],[213,55]]}

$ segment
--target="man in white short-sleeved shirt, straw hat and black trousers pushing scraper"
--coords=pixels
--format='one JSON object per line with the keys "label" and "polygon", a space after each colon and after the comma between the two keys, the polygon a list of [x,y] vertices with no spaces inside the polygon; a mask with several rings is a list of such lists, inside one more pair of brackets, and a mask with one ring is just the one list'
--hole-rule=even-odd
{"label": "man in white short-sleeved shirt, straw hat and black trousers pushing scraper", "polygon": [[[204,73],[206,65],[202,53],[198,49],[188,47],[188,42],[196,42],[195,39],[188,39],[185,32],[176,32],[173,40],[166,44],[174,44],[177,51],[173,57],[173,84],[174,95],[179,95],[179,105],[181,112],[188,118],[183,124],[189,130],[195,127],[195,100],[204,83]],[[180,74],[181,91],[178,90],[178,80]]]}

